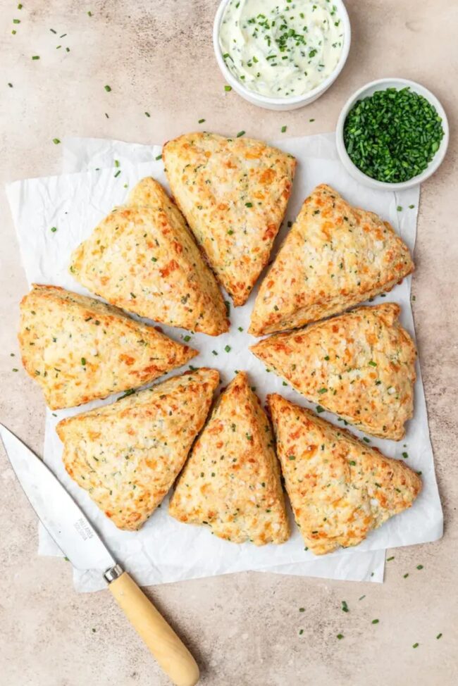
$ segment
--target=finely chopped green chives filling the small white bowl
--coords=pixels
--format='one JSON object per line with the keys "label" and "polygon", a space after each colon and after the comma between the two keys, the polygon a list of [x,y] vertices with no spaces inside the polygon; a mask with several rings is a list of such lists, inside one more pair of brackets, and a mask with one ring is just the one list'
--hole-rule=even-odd
{"label": "finely chopped green chives filling the small white bowl", "polygon": [[357,101],[345,120],[343,134],[347,153],[357,168],[390,183],[407,181],[426,169],[443,136],[438,112],[409,87],[376,91]]}

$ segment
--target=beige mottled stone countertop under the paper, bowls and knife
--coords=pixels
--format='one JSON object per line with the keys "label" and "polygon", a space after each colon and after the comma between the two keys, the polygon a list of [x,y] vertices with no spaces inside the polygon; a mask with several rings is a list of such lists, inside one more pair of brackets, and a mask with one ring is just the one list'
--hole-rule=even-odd
{"label": "beige mottled stone countertop under the paper, bowls and knife", "polygon": [[[147,592],[197,656],[202,686],[452,686],[458,683],[458,3],[347,1],[353,32],[347,66],[321,99],[290,113],[225,94],[211,43],[217,4],[23,0],[19,10],[16,0],[0,0],[0,420],[41,454],[42,396],[23,370],[12,371],[20,367],[18,301],[27,284],[4,183],[59,173],[61,149],[52,139],[162,142],[198,128],[199,118],[225,134],[244,129],[275,139],[287,125],[286,135],[309,135],[333,130],[347,96],[369,80],[423,83],[451,124],[445,162],[421,191],[413,280],[444,537],[388,551],[394,559],[383,585],[240,573]],[[0,480],[1,686],[166,686],[110,595],[75,593],[68,563],[37,556],[37,519],[3,449]],[[349,613],[341,610],[343,599]]]}

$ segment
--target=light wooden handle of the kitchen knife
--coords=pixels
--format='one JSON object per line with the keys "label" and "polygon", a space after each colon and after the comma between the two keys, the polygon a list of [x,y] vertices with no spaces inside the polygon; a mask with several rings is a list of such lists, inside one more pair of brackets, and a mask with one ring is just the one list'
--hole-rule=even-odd
{"label": "light wooden handle of the kitchen knife", "polygon": [[111,581],[109,589],[120,609],[124,611],[175,686],[197,684],[197,662],[128,573],[123,572]]}

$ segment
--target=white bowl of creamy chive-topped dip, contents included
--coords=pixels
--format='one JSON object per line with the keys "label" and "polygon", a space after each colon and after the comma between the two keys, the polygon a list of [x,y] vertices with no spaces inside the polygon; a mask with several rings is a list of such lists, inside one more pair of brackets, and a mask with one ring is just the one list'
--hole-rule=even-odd
{"label": "white bowl of creamy chive-topped dip, contents included", "polygon": [[228,85],[271,110],[319,98],[342,71],[350,42],[342,0],[222,0],[213,24]]}

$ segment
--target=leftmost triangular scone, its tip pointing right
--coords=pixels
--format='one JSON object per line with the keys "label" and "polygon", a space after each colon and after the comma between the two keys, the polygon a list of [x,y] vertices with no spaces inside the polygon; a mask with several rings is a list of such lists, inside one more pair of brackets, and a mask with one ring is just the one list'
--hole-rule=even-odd
{"label": "leftmost triangular scone, its tip pointing right", "polygon": [[18,338],[52,410],[142,386],[197,355],[117,307],[36,284],[20,303]]}

